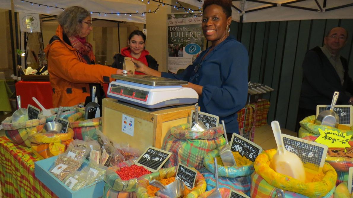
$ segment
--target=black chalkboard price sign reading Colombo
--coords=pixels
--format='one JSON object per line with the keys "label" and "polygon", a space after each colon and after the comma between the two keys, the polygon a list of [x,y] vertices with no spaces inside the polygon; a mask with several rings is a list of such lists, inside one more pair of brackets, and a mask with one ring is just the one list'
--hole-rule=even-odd
{"label": "black chalkboard price sign reading Colombo", "polygon": [[231,151],[239,152],[241,156],[245,156],[247,159],[254,162],[256,157],[262,152],[262,148],[243,136],[233,133]]}

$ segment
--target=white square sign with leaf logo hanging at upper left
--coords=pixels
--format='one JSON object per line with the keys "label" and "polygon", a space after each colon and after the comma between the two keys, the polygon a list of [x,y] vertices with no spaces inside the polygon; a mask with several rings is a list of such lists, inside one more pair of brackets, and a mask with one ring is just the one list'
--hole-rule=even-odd
{"label": "white square sign with leaf logo hanging at upper left", "polygon": [[19,13],[21,32],[41,32],[39,14]]}

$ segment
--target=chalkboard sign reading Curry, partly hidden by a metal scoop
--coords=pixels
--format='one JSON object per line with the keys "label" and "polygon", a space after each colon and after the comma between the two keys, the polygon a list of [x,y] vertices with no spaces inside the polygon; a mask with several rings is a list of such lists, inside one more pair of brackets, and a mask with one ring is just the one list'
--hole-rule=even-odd
{"label": "chalkboard sign reading Curry, partly hidden by a metal scoop", "polygon": [[[330,110],[331,105],[317,105],[316,106],[316,117],[320,112]],[[352,105],[335,105],[333,111],[337,113],[340,118],[340,124],[352,126],[353,125],[353,106]]]}

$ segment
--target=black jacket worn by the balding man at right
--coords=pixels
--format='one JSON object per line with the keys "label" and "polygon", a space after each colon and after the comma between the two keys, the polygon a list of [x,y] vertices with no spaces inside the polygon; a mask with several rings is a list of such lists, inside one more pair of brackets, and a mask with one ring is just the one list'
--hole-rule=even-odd
{"label": "black jacket worn by the balding man at right", "polygon": [[306,53],[303,61],[300,108],[316,110],[316,105],[329,105],[335,91],[340,92],[337,104],[348,104],[351,96],[346,91],[353,94],[353,82],[348,75],[346,58],[341,56],[341,62],[345,69],[343,85],[335,68],[319,47]]}

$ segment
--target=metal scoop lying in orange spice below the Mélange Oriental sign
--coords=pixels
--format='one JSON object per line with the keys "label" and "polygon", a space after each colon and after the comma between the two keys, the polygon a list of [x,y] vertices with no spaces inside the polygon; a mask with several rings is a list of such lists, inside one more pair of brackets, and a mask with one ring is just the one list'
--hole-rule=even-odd
{"label": "metal scoop lying in orange spice below the M\u00e9lange Oriental sign", "polygon": [[175,180],[172,183],[164,186],[160,181],[154,179],[150,181],[149,184],[160,188],[160,190],[155,193],[155,196],[157,197],[180,198],[184,196],[185,185],[181,180]]}

